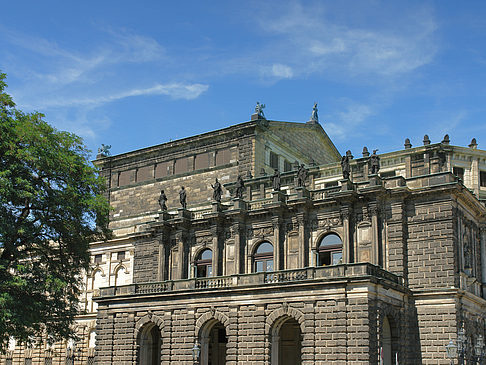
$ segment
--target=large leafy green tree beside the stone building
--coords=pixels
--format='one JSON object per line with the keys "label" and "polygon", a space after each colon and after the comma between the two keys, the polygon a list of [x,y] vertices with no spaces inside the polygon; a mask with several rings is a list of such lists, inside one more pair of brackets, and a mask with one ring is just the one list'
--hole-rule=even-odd
{"label": "large leafy green tree beside the stone building", "polygon": [[[80,137],[16,109],[0,73],[0,351],[72,336],[89,242],[109,236],[104,180]],[[102,228],[100,228],[102,227]]]}

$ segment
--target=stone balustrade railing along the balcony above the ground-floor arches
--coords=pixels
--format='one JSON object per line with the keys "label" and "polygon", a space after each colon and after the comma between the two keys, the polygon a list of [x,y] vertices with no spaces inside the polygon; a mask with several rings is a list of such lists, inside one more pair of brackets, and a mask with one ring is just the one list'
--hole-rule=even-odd
{"label": "stone balustrade railing along the balcony above the ground-floor arches", "polygon": [[99,297],[153,295],[181,290],[211,290],[272,285],[279,283],[298,283],[312,280],[315,282],[322,282],[363,277],[374,277],[379,280],[386,280],[399,285],[403,284],[400,276],[394,275],[378,266],[369,263],[359,263],[112,286],[108,288],[101,288],[99,291]]}

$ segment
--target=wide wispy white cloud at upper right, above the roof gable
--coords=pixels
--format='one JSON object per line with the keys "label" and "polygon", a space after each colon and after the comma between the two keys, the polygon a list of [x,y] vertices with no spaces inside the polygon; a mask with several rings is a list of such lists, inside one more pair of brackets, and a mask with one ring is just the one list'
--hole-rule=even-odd
{"label": "wide wispy white cloud at upper right, above the roof gable", "polygon": [[[266,56],[285,59],[293,76],[308,74],[399,76],[430,63],[437,53],[437,25],[426,11],[417,11],[394,27],[363,28],[336,22],[321,3],[291,2],[260,16],[272,44]],[[265,13],[265,11],[263,11]]]}

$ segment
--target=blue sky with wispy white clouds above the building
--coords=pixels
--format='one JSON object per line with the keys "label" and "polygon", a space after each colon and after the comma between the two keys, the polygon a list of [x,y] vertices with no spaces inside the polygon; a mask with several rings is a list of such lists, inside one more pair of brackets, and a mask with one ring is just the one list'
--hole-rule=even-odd
{"label": "blue sky with wispy white clouds above the building", "polygon": [[448,133],[486,148],[484,1],[4,1],[24,111],[112,154],[249,120],[309,119],[341,153]]}

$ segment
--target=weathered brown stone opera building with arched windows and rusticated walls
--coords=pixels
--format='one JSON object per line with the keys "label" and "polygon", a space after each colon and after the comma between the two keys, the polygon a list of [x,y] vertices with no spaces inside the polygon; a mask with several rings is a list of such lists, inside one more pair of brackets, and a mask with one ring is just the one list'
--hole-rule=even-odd
{"label": "weathered brown stone opera building with arched windows and rusticated walls", "polygon": [[[486,151],[406,143],[377,175],[364,151],[349,180],[339,161],[319,124],[262,119],[100,156],[116,238],[92,244],[76,363],[193,364],[196,346],[203,365],[446,365],[460,328],[473,361],[486,337]],[[9,356],[61,363],[69,348],[40,340]]]}

